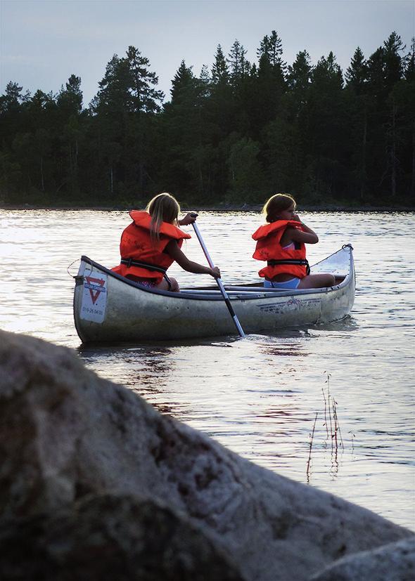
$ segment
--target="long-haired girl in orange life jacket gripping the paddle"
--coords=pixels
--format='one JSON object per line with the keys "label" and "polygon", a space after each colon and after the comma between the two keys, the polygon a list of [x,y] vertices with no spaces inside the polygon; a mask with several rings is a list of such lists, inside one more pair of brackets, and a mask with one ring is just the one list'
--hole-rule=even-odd
{"label": "long-haired girl in orange life jacket gripping the paddle", "polygon": [[196,214],[186,214],[178,220],[179,212],[179,203],[167,193],[153,197],[146,211],[132,210],[129,215],[133,222],[121,236],[121,263],[112,270],[146,287],[173,292],[179,292],[179,285],[177,280],[167,277],[166,271],[174,261],[189,273],[220,278],[217,266],[202,266],[181,252],[183,240],[191,236],[177,225],[191,224]]}

